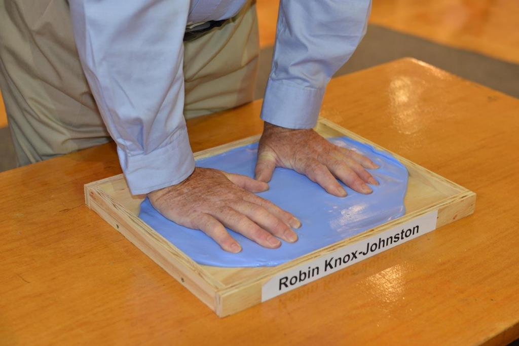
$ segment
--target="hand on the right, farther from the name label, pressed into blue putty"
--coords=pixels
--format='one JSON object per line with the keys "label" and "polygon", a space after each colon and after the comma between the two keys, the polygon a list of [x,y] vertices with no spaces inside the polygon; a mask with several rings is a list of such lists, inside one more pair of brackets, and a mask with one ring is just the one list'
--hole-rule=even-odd
{"label": "hand on the right, farther from the name label, pressed into blue putty", "polygon": [[292,130],[265,122],[258,146],[256,179],[269,182],[276,167],[304,174],[338,197],[347,193],[335,177],[360,193],[373,192],[366,183],[378,185],[366,171],[378,166],[367,157],[338,147],[311,129]]}

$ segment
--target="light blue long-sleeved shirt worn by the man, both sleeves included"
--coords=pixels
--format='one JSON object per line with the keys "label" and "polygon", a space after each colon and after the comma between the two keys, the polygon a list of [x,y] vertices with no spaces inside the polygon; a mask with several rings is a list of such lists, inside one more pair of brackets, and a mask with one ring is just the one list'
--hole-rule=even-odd
{"label": "light blue long-sleeved shirt worn by the man, both sleeves included", "polygon": [[[262,1],[262,0],[259,0]],[[74,37],[130,190],[194,170],[183,116],[188,23],[233,17],[245,0],[71,0]],[[261,118],[312,128],[326,85],[365,34],[371,0],[281,0]]]}

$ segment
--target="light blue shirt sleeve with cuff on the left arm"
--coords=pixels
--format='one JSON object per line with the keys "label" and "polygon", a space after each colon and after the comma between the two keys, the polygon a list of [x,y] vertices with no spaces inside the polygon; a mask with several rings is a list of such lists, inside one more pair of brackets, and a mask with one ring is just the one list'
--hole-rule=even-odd
{"label": "light blue shirt sleeve with cuff on the left arm", "polygon": [[71,0],[83,70],[133,194],[194,170],[184,109],[189,1]]}

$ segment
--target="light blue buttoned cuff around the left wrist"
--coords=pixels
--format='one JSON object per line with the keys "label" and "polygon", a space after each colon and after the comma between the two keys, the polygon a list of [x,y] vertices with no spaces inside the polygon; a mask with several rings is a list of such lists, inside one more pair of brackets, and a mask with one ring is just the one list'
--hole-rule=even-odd
{"label": "light blue buttoned cuff around the left wrist", "polygon": [[133,195],[184,181],[195,169],[187,130],[177,130],[170,143],[147,154],[131,155],[117,147],[119,162]]}

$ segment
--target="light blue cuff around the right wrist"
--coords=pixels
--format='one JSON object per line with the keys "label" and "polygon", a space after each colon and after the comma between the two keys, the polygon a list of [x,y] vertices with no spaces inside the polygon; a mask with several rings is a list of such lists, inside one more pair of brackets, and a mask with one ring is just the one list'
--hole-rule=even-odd
{"label": "light blue cuff around the right wrist", "polygon": [[324,88],[308,88],[269,79],[261,118],[284,128],[311,129],[316,126],[323,95]]}

